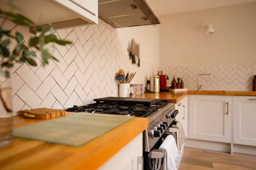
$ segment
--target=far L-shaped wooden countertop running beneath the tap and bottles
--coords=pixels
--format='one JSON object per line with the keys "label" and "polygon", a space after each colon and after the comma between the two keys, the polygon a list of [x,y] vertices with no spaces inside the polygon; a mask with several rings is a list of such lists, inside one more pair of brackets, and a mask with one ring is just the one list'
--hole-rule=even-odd
{"label": "far L-shaped wooden countertop running beneath the tap and bottles", "polygon": [[173,103],[178,103],[188,94],[204,94],[204,95],[236,95],[236,96],[256,96],[256,91],[184,91],[184,92],[159,92],[159,93],[144,93],[138,98],[149,99],[165,99]]}

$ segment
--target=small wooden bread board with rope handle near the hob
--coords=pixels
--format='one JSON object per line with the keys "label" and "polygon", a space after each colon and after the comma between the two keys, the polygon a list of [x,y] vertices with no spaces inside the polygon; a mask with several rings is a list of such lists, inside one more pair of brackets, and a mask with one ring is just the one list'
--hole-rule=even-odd
{"label": "small wooden bread board with rope handle near the hob", "polygon": [[38,108],[31,110],[20,110],[19,115],[24,116],[24,118],[50,119],[65,116],[65,112],[65,110],[61,109]]}

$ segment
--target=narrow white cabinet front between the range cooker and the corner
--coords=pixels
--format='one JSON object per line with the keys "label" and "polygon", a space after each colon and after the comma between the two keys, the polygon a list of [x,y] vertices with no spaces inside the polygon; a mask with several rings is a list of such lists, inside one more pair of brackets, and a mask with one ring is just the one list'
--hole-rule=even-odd
{"label": "narrow white cabinet front between the range cooker and the corner", "polygon": [[188,117],[188,96],[184,97],[180,102],[175,104],[175,109],[179,111],[179,114],[176,116],[176,121],[180,121],[185,131],[186,137],[188,138],[189,134],[189,117]]}

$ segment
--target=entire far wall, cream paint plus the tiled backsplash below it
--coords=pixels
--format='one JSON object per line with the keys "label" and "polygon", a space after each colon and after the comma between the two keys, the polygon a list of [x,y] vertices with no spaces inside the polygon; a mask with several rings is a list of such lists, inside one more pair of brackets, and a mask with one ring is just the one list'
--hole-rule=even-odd
{"label": "entire far wall, cream paint plus the tiled backsplash below it", "polygon": [[[252,90],[256,75],[256,2],[160,16],[160,68],[185,88]],[[208,24],[215,33],[205,35]]]}

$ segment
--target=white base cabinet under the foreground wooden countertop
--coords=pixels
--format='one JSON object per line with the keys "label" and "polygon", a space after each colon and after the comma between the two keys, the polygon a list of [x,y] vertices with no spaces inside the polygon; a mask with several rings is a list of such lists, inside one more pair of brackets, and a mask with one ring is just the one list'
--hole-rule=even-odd
{"label": "white base cabinet under the foreground wooden countertop", "polygon": [[142,170],[142,143],[142,133],[140,133],[98,170]]}

